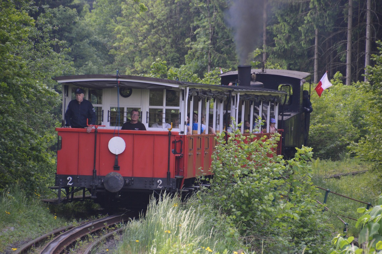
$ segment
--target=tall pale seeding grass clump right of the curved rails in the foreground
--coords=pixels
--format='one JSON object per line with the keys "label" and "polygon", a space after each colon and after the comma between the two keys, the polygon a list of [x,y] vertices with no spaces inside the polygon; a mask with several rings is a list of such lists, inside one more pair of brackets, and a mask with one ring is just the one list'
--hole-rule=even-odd
{"label": "tall pale seeding grass clump right of the curved rails in the foreground", "polygon": [[241,245],[238,233],[213,211],[195,198],[151,200],[144,218],[126,226],[117,253],[232,253]]}

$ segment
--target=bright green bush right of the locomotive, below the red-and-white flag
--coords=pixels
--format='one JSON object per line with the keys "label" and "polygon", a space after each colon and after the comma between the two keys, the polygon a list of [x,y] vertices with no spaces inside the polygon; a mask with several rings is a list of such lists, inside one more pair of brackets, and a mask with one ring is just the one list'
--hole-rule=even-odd
{"label": "bright green bush right of the locomotive, below the red-and-white flag", "polygon": [[321,159],[342,159],[348,146],[368,133],[368,93],[360,84],[345,86],[342,74],[336,73],[333,84],[321,97],[312,94],[313,112],[309,131],[309,146]]}

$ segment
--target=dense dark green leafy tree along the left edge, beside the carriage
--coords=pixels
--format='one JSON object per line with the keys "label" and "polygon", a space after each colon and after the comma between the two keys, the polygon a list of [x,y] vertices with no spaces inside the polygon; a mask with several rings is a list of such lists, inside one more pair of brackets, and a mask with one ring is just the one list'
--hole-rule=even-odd
{"label": "dense dark green leafy tree along the left edge, beside the carriage", "polygon": [[37,20],[30,2],[0,2],[0,188],[18,184],[32,192],[53,176],[55,159],[49,147],[55,139],[59,103],[52,77],[70,64],[52,48],[46,15]]}

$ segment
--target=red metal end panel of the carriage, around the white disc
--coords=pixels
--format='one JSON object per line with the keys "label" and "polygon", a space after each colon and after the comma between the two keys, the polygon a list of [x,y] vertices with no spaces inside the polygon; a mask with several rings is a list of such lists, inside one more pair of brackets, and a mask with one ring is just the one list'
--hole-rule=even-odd
{"label": "red metal end panel of the carriage, around the white disc", "polygon": [[[62,136],[62,148],[58,150],[57,173],[62,175],[92,175],[94,168],[94,129],[86,133],[82,129],[57,128]],[[177,132],[170,136],[170,144]],[[115,154],[108,149],[108,142],[118,133],[111,129],[99,129],[95,169],[105,176],[114,171]],[[126,147],[118,155],[117,171],[126,177],[167,177],[168,132],[120,131]],[[171,148],[172,149],[172,148]],[[175,155],[170,151],[170,175],[175,173]]]}

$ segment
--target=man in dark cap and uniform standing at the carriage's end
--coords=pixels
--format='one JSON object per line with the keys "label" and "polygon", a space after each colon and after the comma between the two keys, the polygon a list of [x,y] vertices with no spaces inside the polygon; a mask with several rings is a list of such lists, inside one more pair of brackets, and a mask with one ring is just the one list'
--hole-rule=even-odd
{"label": "man in dark cap and uniform standing at the carriage's end", "polygon": [[71,100],[65,112],[65,126],[69,128],[86,128],[86,132],[90,133],[92,126],[95,125],[95,110],[93,104],[89,100],[85,100],[85,92],[82,88],[76,89],[76,99]]}

